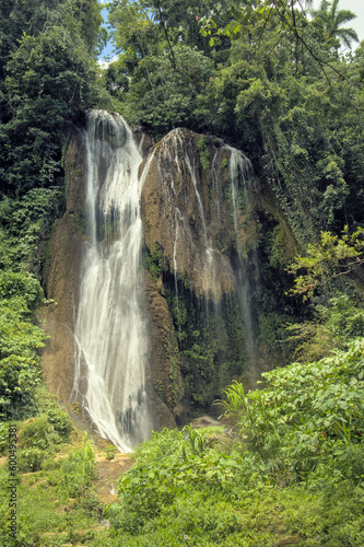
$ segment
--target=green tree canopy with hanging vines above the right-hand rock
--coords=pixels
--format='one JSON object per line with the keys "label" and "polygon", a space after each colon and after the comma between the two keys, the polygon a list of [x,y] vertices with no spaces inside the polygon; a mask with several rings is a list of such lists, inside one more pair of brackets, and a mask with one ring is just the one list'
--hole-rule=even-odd
{"label": "green tree canopy with hanging vines above the right-hand rock", "polygon": [[[340,56],[347,19],[337,1],[313,20],[303,8],[114,1],[120,54],[104,79],[131,123],[157,136],[184,125],[243,149],[305,246],[342,230],[343,211],[347,223],[362,222],[364,155],[362,48]],[[332,32],[329,9],[340,14]]]}

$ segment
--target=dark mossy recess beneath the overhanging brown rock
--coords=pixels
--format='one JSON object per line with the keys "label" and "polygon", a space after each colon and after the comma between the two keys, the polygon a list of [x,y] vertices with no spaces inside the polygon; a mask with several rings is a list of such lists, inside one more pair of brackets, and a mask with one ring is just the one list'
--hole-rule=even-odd
{"label": "dark mossy recess beneath the overhanging brown rock", "polygon": [[167,303],[180,350],[185,406],[211,411],[222,389],[244,369],[244,328],[234,296],[216,306],[184,279],[166,276]]}

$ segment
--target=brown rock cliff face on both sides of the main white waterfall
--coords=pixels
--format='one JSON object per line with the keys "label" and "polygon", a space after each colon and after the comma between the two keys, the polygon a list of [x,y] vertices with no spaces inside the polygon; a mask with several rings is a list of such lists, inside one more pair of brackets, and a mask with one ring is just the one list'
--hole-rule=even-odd
{"label": "brown rock cliff face on both sides of the main white waterfall", "polygon": [[[144,156],[139,174],[146,392],[158,429],[207,408],[232,379],[263,361],[263,345],[255,349],[262,232],[268,226],[281,242],[283,251],[277,244],[275,254],[294,241],[240,152],[185,129],[155,146],[140,130],[134,135]],[[105,138],[113,148],[111,137]],[[43,366],[63,403],[74,394],[74,328],[89,238],[85,147],[84,132],[74,130],[64,158],[67,211],[51,238],[46,280],[56,304],[47,312]]]}

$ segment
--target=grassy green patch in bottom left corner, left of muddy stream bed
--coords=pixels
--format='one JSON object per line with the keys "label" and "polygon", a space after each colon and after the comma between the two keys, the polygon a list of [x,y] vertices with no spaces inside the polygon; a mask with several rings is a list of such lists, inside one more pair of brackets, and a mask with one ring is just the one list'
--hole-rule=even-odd
{"label": "grassy green patch in bottom left corner, left of muddy stream bed", "polygon": [[[58,446],[61,452],[55,452],[54,447],[47,451],[43,469],[17,475],[19,545],[91,545],[90,542],[105,533],[103,507],[94,492],[97,480],[90,478],[87,467],[90,447],[90,441],[74,432],[70,443]],[[10,547],[14,542],[9,537],[9,469],[4,458],[1,463],[0,545]],[[73,485],[82,484],[74,498],[70,497],[66,477]]]}

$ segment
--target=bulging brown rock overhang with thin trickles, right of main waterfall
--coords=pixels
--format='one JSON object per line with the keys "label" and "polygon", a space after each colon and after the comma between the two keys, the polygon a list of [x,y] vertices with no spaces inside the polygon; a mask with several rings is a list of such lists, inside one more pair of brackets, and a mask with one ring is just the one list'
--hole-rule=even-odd
{"label": "bulging brown rock overhang with thin trickles, right of main waterfall", "polygon": [[175,129],[154,147],[142,175],[146,246],[162,247],[175,275],[218,299],[234,290],[228,156],[219,139]]}

